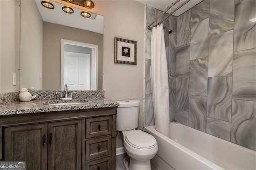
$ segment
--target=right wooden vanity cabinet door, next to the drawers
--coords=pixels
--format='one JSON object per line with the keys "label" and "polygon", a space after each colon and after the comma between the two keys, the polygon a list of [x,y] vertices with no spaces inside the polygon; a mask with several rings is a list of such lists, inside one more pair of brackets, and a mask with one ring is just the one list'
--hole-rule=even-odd
{"label": "right wooden vanity cabinet door, next to the drawers", "polygon": [[48,170],[81,170],[82,120],[48,124]]}

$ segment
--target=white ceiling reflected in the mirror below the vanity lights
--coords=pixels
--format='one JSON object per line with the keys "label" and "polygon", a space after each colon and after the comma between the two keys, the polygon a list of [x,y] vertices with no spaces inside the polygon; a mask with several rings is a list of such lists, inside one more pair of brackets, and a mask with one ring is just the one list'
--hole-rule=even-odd
{"label": "white ceiling reflected in the mirror below the vanity lights", "polygon": [[36,0],[36,5],[43,21],[103,34],[104,16],[90,12],[91,18],[95,18],[94,20],[90,18],[83,18],[80,15],[80,12],[82,11],[80,9],[73,8],[74,13],[67,14],[62,11],[62,4],[52,1],[51,3],[54,4],[54,9],[44,8],[41,5],[41,0]]}

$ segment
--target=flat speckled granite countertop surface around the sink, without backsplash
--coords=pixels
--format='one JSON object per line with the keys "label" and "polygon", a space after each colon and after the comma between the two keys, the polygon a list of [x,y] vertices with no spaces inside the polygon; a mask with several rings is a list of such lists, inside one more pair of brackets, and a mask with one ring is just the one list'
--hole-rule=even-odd
{"label": "flat speckled granite countertop surface around the sink, without backsplash", "polygon": [[[82,104],[76,105],[49,105],[53,103],[64,102],[81,102]],[[85,103],[83,103],[85,102]],[[101,98],[84,98],[71,100],[34,100],[29,102],[14,102],[8,105],[2,106],[0,116],[2,115],[17,115],[25,113],[43,113],[53,111],[70,111],[79,109],[94,109],[94,108],[106,108],[117,107],[119,103],[110,99]]]}

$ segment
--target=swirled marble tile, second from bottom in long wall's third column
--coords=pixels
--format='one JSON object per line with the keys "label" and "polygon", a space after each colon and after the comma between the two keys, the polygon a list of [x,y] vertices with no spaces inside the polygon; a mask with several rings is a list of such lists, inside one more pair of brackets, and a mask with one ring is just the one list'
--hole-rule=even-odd
{"label": "swirled marble tile, second from bottom in long wall's third column", "polygon": [[223,121],[231,121],[232,77],[209,77],[207,115]]}

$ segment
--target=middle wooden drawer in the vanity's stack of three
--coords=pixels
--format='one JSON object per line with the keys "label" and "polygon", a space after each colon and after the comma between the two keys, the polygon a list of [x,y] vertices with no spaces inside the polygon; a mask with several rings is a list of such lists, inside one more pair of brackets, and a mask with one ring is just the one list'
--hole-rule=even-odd
{"label": "middle wooden drawer in the vanity's stack of three", "polygon": [[86,156],[85,160],[98,158],[111,154],[111,136],[87,140],[85,142]]}

